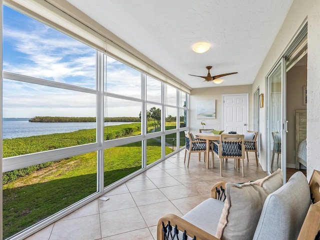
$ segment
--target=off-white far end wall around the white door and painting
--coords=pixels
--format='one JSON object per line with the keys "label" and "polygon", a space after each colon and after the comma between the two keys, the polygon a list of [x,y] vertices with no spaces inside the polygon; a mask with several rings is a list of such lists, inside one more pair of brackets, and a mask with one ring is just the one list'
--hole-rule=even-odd
{"label": "off-white far end wall around the white door and painting", "polygon": [[[214,84],[214,83],[212,83]],[[248,93],[249,94],[249,108],[248,108],[248,130],[253,129],[252,118],[252,90],[251,85],[238,85],[238,86],[214,86],[205,88],[194,88],[190,95],[190,131],[192,133],[199,132],[199,128],[202,128],[201,120],[205,120],[204,128],[214,128],[217,130],[222,129],[222,95],[223,94],[237,94]],[[197,119],[196,118],[196,102],[198,100],[213,100],[215,99],[215,119]]]}

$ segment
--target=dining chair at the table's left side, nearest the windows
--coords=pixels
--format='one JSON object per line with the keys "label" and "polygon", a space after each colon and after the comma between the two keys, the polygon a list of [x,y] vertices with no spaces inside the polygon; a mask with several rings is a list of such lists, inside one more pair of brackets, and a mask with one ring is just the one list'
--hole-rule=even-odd
{"label": "dining chair at the table's left side, nearest the windows", "polygon": [[[206,151],[205,140],[194,138],[193,134],[188,131],[184,131],[184,135],[185,135],[184,163],[185,163],[186,152],[188,152],[187,167],[189,167],[191,152],[197,152],[199,154],[199,161],[200,161],[200,153],[204,152],[204,161],[205,161],[205,151]],[[213,153],[212,153],[212,158],[213,158]]]}

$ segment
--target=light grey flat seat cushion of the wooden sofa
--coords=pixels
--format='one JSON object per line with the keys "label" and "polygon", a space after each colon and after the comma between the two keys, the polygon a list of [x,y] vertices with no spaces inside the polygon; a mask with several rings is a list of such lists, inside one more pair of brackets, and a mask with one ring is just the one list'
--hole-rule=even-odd
{"label": "light grey flat seat cushion of the wooden sofa", "polygon": [[[214,235],[219,222],[219,217],[217,216],[221,215],[223,205],[223,201],[208,198],[188,211],[182,218]],[[182,237],[179,239],[182,239]]]}

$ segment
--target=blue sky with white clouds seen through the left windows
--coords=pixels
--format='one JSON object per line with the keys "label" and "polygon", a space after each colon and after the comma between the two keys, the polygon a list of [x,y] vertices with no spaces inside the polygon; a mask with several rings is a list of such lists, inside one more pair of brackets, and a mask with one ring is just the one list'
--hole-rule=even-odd
{"label": "blue sky with white clouds seen through the left windows", "polygon": [[[95,88],[95,49],[3,6],[3,70]],[[140,72],[107,57],[107,90],[140,98]],[[159,92],[158,84],[148,90]],[[149,92],[150,94],[150,92]],[[151,92],[152,94],[152,92]],[[140,104],[115,101],[105,116],[138,116]],[[120,102],[122,104],[120,104]],[[3,117],[95,116],[95,94],[3,79]]]}

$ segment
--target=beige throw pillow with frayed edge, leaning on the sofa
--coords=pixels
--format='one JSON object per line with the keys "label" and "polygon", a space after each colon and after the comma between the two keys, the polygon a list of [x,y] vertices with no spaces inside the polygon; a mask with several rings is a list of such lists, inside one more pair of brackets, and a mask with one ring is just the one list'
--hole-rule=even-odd
{"label": "beige throw pillow with frayed edge, leaning on the sofa", "polygon": [[252,239],[265,198],[282,185],[281,169],[241,185],[226,183],[222,214],[215,236],[219,239]]}

